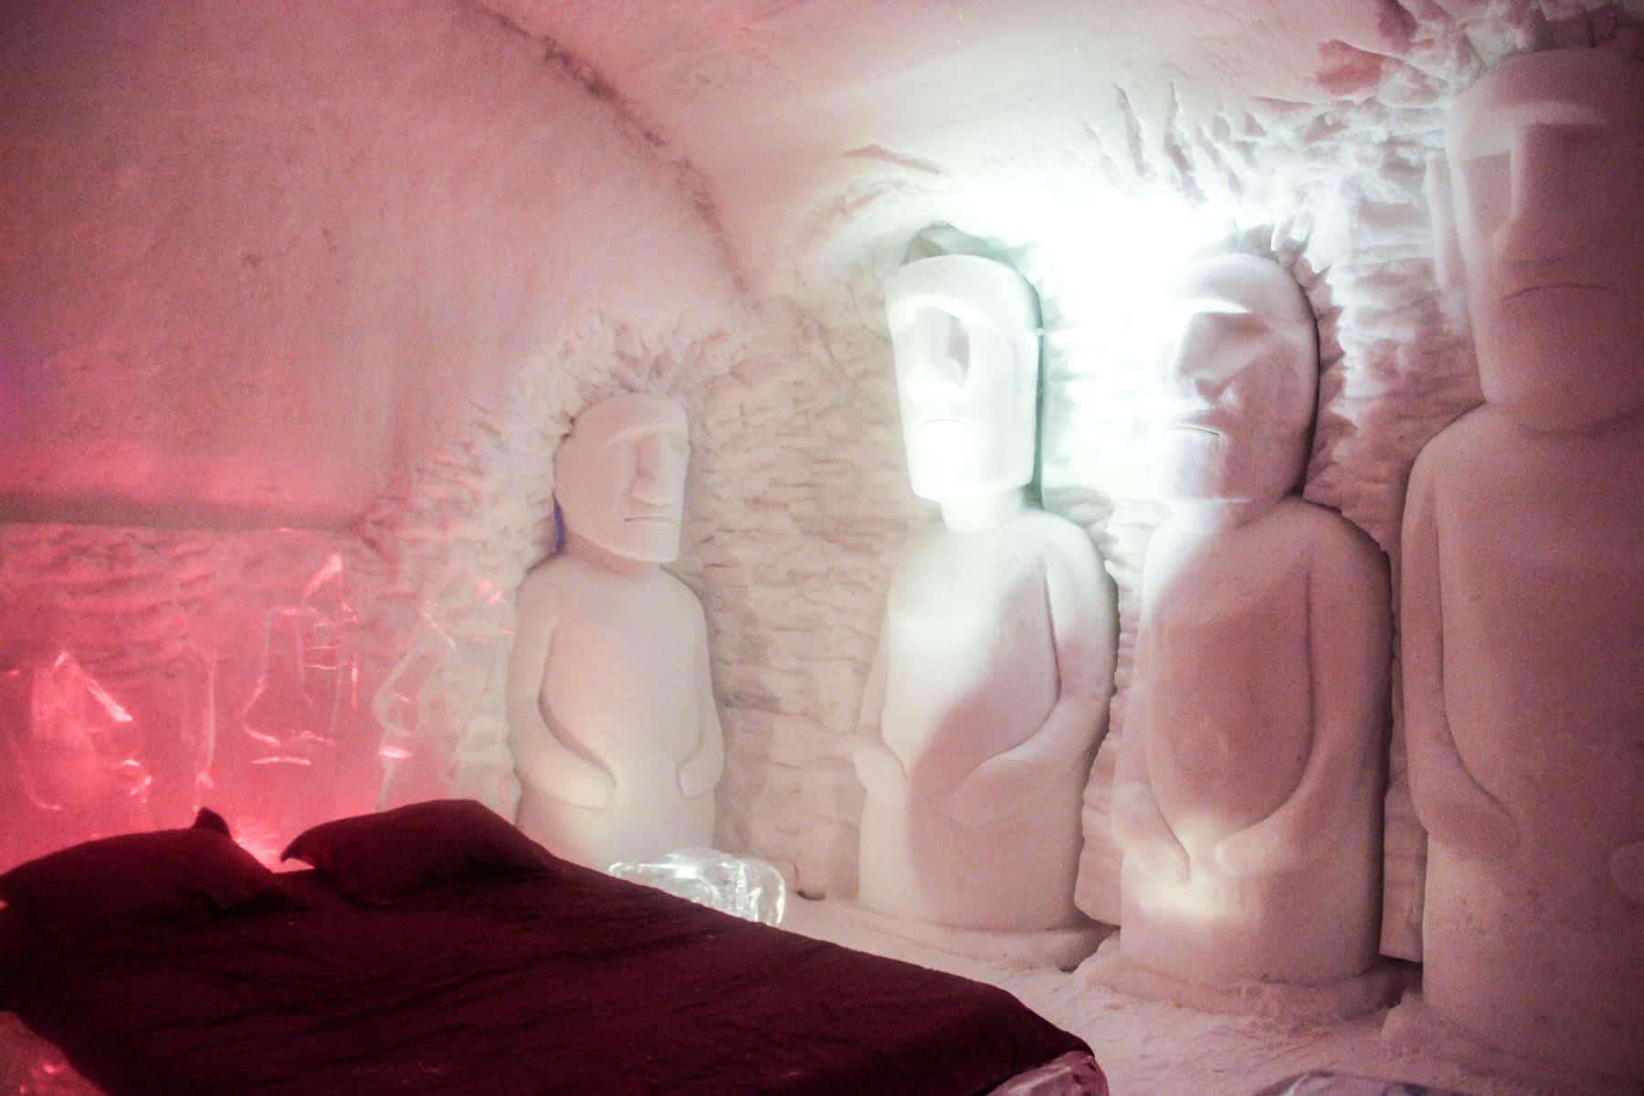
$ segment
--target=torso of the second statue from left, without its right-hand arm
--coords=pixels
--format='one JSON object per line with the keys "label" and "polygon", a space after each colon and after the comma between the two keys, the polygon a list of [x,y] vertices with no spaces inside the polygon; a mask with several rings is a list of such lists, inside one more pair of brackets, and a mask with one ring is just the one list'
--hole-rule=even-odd
{"label": "torso of the second statue from left, without its right-hand arm", "polygon": [[[1062,560],[1059,554],[1087,552]],[[1093,565],[1082,529],[1046,513],[998,529],[931,529],[909,544],[886,600],[880,730],[907,771],[861,812],[860,899],[907,920],[990,930],[1080,923],[1074,876],[1090,749],[1054,749],[1032,795],[962,822],[955,789],[1034,736],[1060,693],[1051,618],[1055,567]]]}

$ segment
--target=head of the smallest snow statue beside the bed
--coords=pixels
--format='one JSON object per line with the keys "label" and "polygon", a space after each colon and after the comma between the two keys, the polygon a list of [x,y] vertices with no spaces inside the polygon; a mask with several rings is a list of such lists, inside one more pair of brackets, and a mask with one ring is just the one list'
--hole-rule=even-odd
{"label": "head of the smallest snow statue beside the bed", "polygon": [[566,527],[623,559],[672,560],[689,457],[677,399],[636,394],[593,404],[554,454],[554,498]]}

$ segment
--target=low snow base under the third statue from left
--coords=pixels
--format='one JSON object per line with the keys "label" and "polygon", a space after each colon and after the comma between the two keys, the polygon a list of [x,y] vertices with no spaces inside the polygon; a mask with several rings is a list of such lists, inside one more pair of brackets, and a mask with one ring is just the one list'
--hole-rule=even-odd
{"label": "low snow base under the third statue from left", "polygon": [[1120,956],[1120,935],[1110,937],[1078,965],[1080,981],[1203,1012],[1266,1015],[1295,1024],[1340,1024],[1389,1007],[1399,999],[1409,978],[1404,968],[1379,961],[1356,978],[1320,986],[1256,979],[1195,983],[1124,961]]}

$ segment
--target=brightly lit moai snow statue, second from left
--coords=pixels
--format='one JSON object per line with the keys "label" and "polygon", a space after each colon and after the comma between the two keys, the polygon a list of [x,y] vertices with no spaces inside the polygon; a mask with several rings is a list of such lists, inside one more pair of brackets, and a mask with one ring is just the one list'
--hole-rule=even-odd
{"label": "brightly lit moai snow statue, second from left", "polygon": [[924,925],[1085,925],[1080,797],[1115,606],[1090,537],[1026,500],[1037,296],[1001,261],[939,255],[898,269],[886,302],[912,490],[942,521],[896,567],[863,697],[860,902]]}

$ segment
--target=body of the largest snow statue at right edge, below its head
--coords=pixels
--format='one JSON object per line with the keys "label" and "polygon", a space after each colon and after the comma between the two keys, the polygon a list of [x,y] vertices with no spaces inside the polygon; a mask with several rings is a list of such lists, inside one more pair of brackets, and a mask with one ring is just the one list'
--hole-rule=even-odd
{"label": "body of the largest snow statue at right edge, below its head", "polygon": [[1424,996],[1524,1053],[1644,1068],[1644,419],[1535,434],[1485,406],[1427,462],[1443,716],[1512,818],[1501,856],[1434,840]]}

